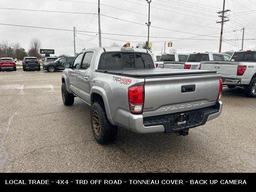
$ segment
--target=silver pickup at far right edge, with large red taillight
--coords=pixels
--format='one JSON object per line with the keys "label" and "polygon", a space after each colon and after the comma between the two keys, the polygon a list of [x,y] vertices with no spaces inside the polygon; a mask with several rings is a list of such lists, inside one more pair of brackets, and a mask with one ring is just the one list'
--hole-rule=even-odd
{"label": "silver pickup at far right edge, with large red taillight", "polygon": [[245,89],[249,97],[256,97],[256,51],[236,51],[231,61],[201,62],[202,70],[217,70],[228,88]]}

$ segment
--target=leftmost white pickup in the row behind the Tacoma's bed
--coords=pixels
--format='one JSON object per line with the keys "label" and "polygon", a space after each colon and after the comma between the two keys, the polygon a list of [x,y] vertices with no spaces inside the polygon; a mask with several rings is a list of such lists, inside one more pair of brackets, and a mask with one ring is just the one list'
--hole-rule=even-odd
{"label": "leftmost white pickup in the row behind the Tacoma's bed", "polygon": [[164,64],[170,62],[186,62],[189,54],[184,53],[172,53],[172,54],[163,54],[158,62],[156,62],[156,67],[163,68]]}

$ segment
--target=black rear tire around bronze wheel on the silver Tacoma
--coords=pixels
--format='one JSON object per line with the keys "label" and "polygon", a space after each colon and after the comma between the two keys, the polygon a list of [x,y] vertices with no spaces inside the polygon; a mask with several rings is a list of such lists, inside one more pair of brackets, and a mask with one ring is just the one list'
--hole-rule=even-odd
{"label": "black rear tire around bronze wheel on the silver Tacoma", "polygon": [[[99,135],[96,134],[96,131],[94,129],[94,124],[93,124],[94,111],[96,111],[98,113],[99,119],[100,119]],[[101,144],[101,145],[109,144],[110,142],[113,142],[116,139],[118,127],[112,125],[109,122],[103,102],[98,101],[92,105],[91,126],[92,126],[92,133],[94,135],[94,138],[99,144]]]}

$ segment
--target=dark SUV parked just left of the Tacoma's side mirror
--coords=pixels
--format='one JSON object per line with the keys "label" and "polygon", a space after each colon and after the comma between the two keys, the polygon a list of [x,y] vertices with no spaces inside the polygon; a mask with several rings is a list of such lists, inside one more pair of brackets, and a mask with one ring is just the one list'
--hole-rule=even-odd
{"label": "dark SUV parked just left of the Tacoma's side mirror", "polygon": [[46,71],[54,72],[55,70],[62,70],[65,69],[62,67],[63,62],[70,62],[74,61],[75,57],[61,57],[55,60],[54,62],[48,62],[43,64],[43,68]]}

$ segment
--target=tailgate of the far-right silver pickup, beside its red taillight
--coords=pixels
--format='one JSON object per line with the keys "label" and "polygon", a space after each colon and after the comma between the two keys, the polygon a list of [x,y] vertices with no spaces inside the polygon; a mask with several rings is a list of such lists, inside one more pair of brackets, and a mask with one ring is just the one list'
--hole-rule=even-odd
{"label": "tailgate of the far-right silver pickup, beside its red taillight", "polygon": [[[218,71],[223,78],[237,78],[238,62],[230,61],[204,61],[201,62],[201,70],[214,70]],[[224,81],[223,81],[224,82]]]}

